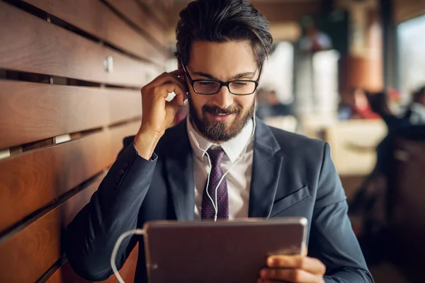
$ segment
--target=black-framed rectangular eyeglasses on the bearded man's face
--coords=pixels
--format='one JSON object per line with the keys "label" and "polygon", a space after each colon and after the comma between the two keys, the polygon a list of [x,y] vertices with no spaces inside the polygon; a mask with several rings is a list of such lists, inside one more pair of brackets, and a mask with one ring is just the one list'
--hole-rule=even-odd
{"label": "black-framed rectangular eyeglasses on the bearded man's face", "polygon": [[256,91],[256,88],[259,86],[259,79],[261,76],[260,67],[259,78],[256,81],[249,80],[239,80],[239,81],[218,81],[213,79],[197,79],[193,80],[191,75],[188,73],[186,66],[181,64],[184,72],[188,76],[189,82],[195,91],[198,94],[202,94],[204,96],[210,96],[212,94],[218,93],[222,86],[227,86],[229,89],[229,93],[234,94],[235,96],[249,96],[250,94]]}

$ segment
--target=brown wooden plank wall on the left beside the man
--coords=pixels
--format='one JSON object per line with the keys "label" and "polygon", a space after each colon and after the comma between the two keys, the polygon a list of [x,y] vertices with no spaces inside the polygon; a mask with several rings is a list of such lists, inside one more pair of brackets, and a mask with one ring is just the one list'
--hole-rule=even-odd
{"label": "brown wooden plank wall on the left beside the man", "polygon": [[87,282],[61,234],[137,132],[166,24],[144,1],[0,0],[0,282]]}

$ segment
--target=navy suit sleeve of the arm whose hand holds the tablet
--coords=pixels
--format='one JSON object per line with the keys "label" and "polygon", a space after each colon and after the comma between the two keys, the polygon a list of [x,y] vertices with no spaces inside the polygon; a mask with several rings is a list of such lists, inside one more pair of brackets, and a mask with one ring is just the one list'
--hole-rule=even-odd
{"label": "navy suit sleeve of the arm whose hand holds the tablet", "polygon": [[345,192],[326,143],[312,217],[309,255],[327,266],[325,282],[373,282],[347,211]]}

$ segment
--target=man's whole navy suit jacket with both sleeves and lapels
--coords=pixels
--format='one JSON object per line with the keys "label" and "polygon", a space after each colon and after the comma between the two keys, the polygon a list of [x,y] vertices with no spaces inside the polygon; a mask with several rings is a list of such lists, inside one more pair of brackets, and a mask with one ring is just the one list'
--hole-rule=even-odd
{"label": "man's whole navy suit jacket with both sleeves and lapels", "polygon": [[[124,149],[98,191],[67,227],[64,250],[86,279],[113,274],[111,253],[125,231],[154,219],[193,219],[193,158],[186,120],[166,130],[153,161],[137,154],[133,138],[124,139]],[[304,216],[308,253],[327,266],[326,282],[373,282],[347,209],[327,143],[256,120],[249,217]],[[147,282],[142,236],[123,242],[117,266],[137,241],[135,282]]]}

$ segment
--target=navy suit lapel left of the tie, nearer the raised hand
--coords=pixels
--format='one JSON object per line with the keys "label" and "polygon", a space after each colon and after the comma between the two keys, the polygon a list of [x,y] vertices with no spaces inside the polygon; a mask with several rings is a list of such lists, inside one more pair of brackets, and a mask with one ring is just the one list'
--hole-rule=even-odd
{"label": "navy suit lapel left of the tie, nearer the raised hand", "polygon": [[193,220],[195,192],[193,157],[188,140],[186,119],[169,129],[168,153],[165,154],[166,179],[171,192],[177,220]]}

